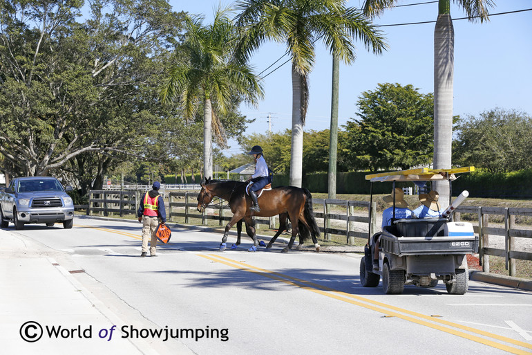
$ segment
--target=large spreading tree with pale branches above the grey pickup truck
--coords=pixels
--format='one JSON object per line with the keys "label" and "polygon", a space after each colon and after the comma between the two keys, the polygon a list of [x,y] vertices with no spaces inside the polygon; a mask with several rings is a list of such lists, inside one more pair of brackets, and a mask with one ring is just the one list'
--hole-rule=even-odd
{"label": "large spreading tree with pale branches above the grey pickup truck", "polygon": [[145,156],[164,117],[152,88],[182,16],[164,0],[93,1],[79,23],[82,6],[1,4],[0,152],[10,174],[55,174],[86,189],[113,163]]}

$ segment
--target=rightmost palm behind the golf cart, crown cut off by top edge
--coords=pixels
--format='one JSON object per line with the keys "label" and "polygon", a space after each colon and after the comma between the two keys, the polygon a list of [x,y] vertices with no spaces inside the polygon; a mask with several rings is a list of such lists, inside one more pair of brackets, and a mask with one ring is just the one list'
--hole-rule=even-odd
{"label": "rightmost palm behind the golf cart, crown cut off by top edge", "polygon": [[[469,21],[488,20],[488,8],[493,0],[454,0],[466,11]],[[379,15],[384,9],[399,0],[365,0],[363,10],[366,15]],[[453,83],[455,31],[450,17],[450,0],[438,1],[438,18],[434,29],[434,168],[451,167],[451,143],[453,136]],[[446,207],[449,201],[449,188],[446,183],[436,183],[439,200]]]}

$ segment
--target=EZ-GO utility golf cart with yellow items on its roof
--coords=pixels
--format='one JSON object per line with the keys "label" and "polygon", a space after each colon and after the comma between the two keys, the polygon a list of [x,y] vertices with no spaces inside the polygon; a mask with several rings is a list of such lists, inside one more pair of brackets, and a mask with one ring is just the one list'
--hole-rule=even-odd
{"label": "EZ-GO utility golf cart with yellow items on its roof", "polygon": [[[450,189],[451,181],[457,179],[456,174],[474,170],[474,167],[420,168],[370,174],[365,179],[371,181],[372,192],[375,182],[391,182],[395,190],[396,182],[411,181],[419,187],[432,181],[448,180]],[[466,293],[469,282],[466,255],[477,253],[478,237],[473,233],[471,223],[453,221],[453,211],[467,196],[467,191],[462,192],[442,217],[396,219],[394,194],[391,225],[368,237],[365,255],[360,262],[361,284],[377,287],[382,276],[383,291],[399,294],[405,284],[435,287],[441,280],[448,293]],[[378,266],[373,266],[376,246],[379,260]]]}

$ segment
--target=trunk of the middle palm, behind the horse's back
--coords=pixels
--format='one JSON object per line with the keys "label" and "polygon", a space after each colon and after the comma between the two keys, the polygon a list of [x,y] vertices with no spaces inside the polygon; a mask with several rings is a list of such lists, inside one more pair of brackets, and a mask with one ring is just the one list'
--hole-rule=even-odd
{"label": "trunk of the middle palm, behind the horse's back", "polygon": [[290,185],[301,188],[303,182],[303,122],[301,120],[301,75],[292,64],[292,151]]}

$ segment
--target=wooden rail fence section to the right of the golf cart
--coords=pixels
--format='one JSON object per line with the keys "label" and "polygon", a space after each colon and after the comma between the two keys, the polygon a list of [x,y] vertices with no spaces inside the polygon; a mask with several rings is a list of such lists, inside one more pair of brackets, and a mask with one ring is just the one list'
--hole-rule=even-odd
{"label": "wooden rail fence section to the right of the golf cart", "polygon": [[[515,217],[532,217],[532,208],[459,206],[455,210],[455,221],[462,219],[462,213],[477,215],[478,226],[473,226],[473,229],[479,235],[479,262],[482,271],[489,272],[489,255],[504,257],[510,276],[515,276],[515,260],[532,260],[532,253],[515,251],[516,238],[532,238],[532,230],[516,228]],[[502,217],[504,228],[490,227],[490,216]],[[490,235],[504,237],[504,249],[490,248]]]}

